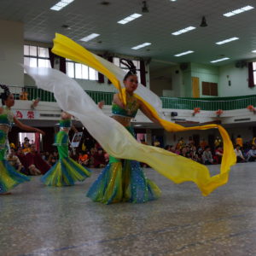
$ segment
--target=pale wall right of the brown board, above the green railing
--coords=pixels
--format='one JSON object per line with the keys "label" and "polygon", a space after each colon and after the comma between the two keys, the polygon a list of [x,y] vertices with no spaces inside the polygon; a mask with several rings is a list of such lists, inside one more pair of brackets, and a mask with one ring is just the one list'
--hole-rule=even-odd
{"label": "pale wall right of the brown board, above the green railing", "polygon": [[[235,63],[219,67],[219,96],[245,96],[256,94],[256,86],[248,87],[248,68],[236,68]],[[229,80],[231,86],[229,86]]]}

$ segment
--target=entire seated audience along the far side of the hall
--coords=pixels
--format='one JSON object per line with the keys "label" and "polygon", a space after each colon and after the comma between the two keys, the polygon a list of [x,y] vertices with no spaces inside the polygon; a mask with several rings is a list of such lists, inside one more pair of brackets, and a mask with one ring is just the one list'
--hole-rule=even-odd
{"label": "entire seated audience along the far side of the hall", "polygon": [[[143,140],[141,143],[145,143],[145,141]],[[81,144],[82,147],[80,150],[70,148],[69,156],[73,160],[89,168],[103,168],[108,165],[109,155],[94,139],[85,137]],[[160,143],[155,141],[154,146],[160,147]],[[195,146],[192,137],[189,137],[187,143],[181,137],[176,145],[166,145],[165,149],[204,165],[220,164],[224,151],[222,141],[219,137],[216,137],[214,146],[214,148],[210,147],[205,139],[202,139],[201,143]],[[243,143],[241,136],[238,136],[234,148],[237,162],[256,160],[256,137],[253,138],[251,143]],[[17,147],[13,145],[10,148],[7,160],[9,160],[11,166],[14,166],[21,173],[26,175],[41,175],[48,172],[49,168],[55,165],[59,160],[59,154],[57,150],[53,152],[42,151],[39,153],[33,141],[30,143],[26,137],[23,143],[19,143]],[[143,163],[142,166],[147,167]]]}

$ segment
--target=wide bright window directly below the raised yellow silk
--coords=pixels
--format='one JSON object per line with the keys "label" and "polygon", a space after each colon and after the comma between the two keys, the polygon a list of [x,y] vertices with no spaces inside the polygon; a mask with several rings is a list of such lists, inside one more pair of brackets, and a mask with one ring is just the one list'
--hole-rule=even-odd
{"label": "wide bright window directly below the raised yellow silk", "polygon": [[95,69],[74,61],[66,60],[67,76],[72,79],[97,80],[98,73]]}

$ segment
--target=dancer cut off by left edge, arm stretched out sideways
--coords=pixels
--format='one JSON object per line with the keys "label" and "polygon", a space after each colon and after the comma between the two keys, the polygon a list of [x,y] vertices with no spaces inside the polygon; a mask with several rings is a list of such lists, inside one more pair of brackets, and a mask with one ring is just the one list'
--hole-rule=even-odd
{"label": "dancer cut off by left edge, arm stretched out sideways", "polygon": [[9,189],[13,189],[16,185],[30,180],[30,177],[16,172],[14,167],[10,166],[9,162],[5,159],[8,148],[8,133],[11,125],[15,123],[15,125],[25,131],[40,132],[42,134],[44,134],[44,131],[23,125],[16,119],[14,113],[10,110],[15,105],[15,98],[6,85],[0,84],[0,87],[4,90],[0,95],[3,104],[3,107],[0,108],[0,195],[9,195],[10,193],[7,193]]}

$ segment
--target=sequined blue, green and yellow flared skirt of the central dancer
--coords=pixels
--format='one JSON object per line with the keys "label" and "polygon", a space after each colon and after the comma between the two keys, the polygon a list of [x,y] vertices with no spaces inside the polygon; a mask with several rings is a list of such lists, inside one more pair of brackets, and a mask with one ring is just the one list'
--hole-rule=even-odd
{"label": "sequined blue, green and yellow flared skirt of the central dancer", "polygon": [[[133,134],[131,127],[127,130]],[[109,156],[109,164],[87,193],[92,201],[111,204],[120,201],[143,203],[160,196],[158,186],[150,181],[140,163],[135,160],[119,160]]]}

